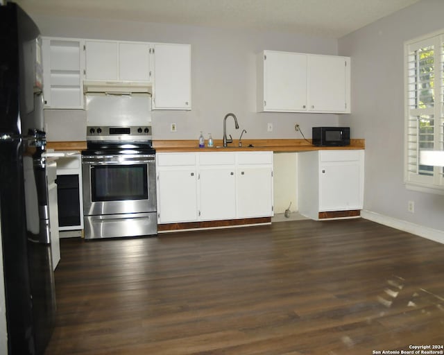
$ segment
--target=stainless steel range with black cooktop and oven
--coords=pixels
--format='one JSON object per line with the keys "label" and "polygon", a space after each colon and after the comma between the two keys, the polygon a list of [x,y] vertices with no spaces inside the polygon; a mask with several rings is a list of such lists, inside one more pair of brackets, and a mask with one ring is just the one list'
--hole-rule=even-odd
{"label": "stainless steel range with black cooktop and oven", "polygon": [[151,126],[88,126],[82,151],[85,239],[157,234]]}

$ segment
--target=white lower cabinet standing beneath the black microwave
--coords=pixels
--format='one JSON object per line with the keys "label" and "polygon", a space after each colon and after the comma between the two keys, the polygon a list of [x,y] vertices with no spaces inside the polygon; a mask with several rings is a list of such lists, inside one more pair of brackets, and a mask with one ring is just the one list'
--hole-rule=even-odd
{"label": "white lower cabinet standing beneath the black microwave", "polygon": [[360,210],[364,204],[364,150],[318,150],[298,155],[299,213]]}

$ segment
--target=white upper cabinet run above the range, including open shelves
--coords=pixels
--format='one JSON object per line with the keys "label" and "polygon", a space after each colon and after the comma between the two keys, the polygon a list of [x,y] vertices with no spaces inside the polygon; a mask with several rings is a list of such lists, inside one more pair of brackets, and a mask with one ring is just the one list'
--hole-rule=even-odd
{"label": "white upper cabinet run above the range, including open shelves", "polygon": [[191,110],[189,44],[44,37],[42,47],[45,108],[83,109],[84,91],[121,85],[149,90],[153,110]]}

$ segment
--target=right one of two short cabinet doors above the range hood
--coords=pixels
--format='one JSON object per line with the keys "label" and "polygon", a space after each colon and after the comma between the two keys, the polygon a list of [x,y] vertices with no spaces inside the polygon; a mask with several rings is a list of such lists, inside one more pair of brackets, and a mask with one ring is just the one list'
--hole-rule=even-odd
{"label": "right one of two short cabinet doors above the range hood", "polygon": [[151,81],[150,44],[119,43],[119,80]]}

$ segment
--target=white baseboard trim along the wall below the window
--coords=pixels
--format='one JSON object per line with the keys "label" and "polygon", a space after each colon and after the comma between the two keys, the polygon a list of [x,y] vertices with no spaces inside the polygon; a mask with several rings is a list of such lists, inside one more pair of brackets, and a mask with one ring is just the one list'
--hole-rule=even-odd
{"label": "white baseboard trim along the wall below the window", "polygon": [[407,220],[400,220],[398,218],[384,216],[382,214],[377,214],[366,209],[363,209],[361,211],[361,217],[368,220],[373,220],[373,222],[380,223],[382,225],[395,228],[397,230],[416,234],[417,236],[422,236],[422,238],[430,239],[431,241],[436,241],[438,243],[444,244],[444,231],[442,230],[434,230],[433,228],[407,222]]}

